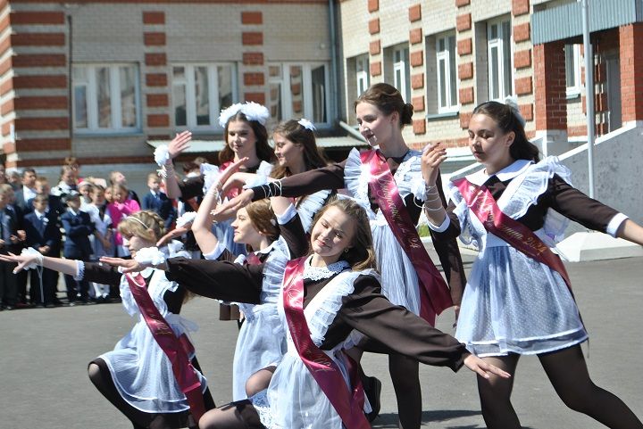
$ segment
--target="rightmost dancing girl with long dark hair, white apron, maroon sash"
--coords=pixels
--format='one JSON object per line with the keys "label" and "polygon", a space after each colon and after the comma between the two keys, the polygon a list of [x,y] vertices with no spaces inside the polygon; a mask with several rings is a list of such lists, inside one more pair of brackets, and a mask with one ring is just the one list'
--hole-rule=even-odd
{"label": "rightmost dancing girl with long dark hair, white apron, maroon sash", "polygon": [[[455,336],[512,375],[521,355],[536,354],[569,408],[609,427],[640,429],[630,408],[589,378],[580,350],[588,334],[563,263],[549,248],[563,235],[568,219],[639,244],[643,228],[573,188],[570,170],[555,157],[539,161],[539,150],[523,126],[515,106],[488,102],[476,107],[469,146],[484,169],[448,184],[446,211],[431,198],[425,202],[438,239],[460,235],[480,249]],[[429,195],[437,195],[437,168],[445,158],[440,144],[422,155]],[[521,427],[512,388],[513,379],[478,379],[490,428]]]}

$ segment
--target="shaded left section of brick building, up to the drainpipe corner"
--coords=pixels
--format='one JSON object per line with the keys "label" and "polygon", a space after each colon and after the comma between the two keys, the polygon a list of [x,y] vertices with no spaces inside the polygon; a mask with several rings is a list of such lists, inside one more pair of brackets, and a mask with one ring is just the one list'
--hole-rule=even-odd
{"label": "shaded left section of brick building, up to the drainpipe corner", "polygon": [[0,1],[8,169],[57,179],[72,155],[84,175],[143,177],[150,140],[188,128],[221,148],[218,115],[231,103],[265,103],[274,122],[306,117],[326,132],[330,99],[323,0]]}

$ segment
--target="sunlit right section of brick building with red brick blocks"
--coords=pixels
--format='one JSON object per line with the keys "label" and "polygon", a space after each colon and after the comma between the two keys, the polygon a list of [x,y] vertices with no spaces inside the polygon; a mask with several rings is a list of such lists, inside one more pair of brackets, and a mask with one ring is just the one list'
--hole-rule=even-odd
{"label": "sunlit right section of brick building with red brick blocks", "polygon": [[[590,29],[601,136],[643,120],[643,51],[637,48],[643,5],[589,4],[595,14]],[[586,138],[580,31],[565,34],[540,16],[549,13],[551,21],[554,13],[558,20],[577,20],[580,28],[576,0],[345,0],[340,5],[347,105],[369,84],[393,83],[415,109],[413,127],[405,131],[408,143],[462,147],[475,105],[507,95],[516,97],[528,136],[548,142],[548,153],[562,153]],[[351,120],[350,112],[347,116]]]}

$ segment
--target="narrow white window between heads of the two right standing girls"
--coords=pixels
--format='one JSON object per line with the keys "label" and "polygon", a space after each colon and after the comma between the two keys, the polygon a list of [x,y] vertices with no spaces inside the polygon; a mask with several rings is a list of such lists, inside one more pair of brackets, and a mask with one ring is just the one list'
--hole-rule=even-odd
{"label": "narrow white window between heads of the two right standing girls", "polygon": [[457,111],[457,71],[455,68],[455,35],[436,40],[438,70],[438,113]]}

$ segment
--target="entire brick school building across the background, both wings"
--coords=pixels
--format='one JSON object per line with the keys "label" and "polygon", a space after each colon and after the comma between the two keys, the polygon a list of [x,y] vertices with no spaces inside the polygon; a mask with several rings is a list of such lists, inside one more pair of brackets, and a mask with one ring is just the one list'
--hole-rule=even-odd
{"label": "entire brick school building across the background, both wings", "polygon": [[[590,4],[609,15],[592,24],[596,129],[604,135],[643,120],[643,6]],[[148,142],[182,129],[204,150],[220,148],[218,112],[244,100],[265,103],[272,123],[306,117],[323,136],[346,135],[338,124],[355,124],[355,97],[380,81],[413,103],[405,128],[413,146],[463,148],[473,107],[514,95],[528,136],[560,153],[586,134],[582,46],[578,32],[552,36],[546,23],[556,13],[569,20],[575,15],[564,8],[577,5],[0,0],[4,163],[54,174],[72,155],[86,175],[147,171]]]}

